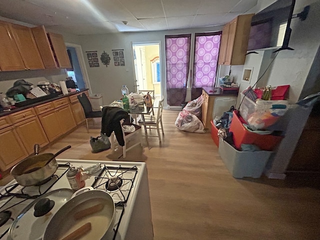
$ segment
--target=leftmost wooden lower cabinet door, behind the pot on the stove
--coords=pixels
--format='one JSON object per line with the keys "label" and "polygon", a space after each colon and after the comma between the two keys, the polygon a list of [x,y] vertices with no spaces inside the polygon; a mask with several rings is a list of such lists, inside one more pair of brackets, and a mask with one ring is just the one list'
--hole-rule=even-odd
{"label": "leftmost wooden lower cabinet door, behind the pot on the stove", "polygon": [[0,130],[0,169],[2,171],[14,166],[28,156],[14,126]]}

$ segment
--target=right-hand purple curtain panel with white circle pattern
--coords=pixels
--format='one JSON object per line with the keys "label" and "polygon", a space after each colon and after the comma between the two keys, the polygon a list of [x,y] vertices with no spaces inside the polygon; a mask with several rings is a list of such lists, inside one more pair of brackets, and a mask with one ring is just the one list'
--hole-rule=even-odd
{"label": "right-hand purple curtain panel with white circle pattern", "polygon": [[214,86],[221,35],[196,36],[192,87]]}

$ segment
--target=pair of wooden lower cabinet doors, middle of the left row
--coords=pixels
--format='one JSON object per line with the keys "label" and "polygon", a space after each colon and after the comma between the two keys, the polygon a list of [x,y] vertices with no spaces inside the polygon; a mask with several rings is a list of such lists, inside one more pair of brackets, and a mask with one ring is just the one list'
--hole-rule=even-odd
{"label": "pair of wooden lower cabinet doors, middle of the left row", "polygon": [[39,119],[49,141],[53,141],[76,126],[69,105],[42,113]]}

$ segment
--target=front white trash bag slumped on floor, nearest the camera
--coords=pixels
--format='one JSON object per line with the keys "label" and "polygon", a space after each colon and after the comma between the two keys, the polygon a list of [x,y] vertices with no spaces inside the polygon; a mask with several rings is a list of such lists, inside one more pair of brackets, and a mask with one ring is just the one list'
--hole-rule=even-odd
{"label": "front white trash bag slumped on floor, nearest the camera", "polygon": [[197,133],[204,133],[204,126],[200,119],[190,113],[189,111],[183,109],[179,112],[178,117],[175,120],[175,126],[182,131],[188,132],[197,132]]}

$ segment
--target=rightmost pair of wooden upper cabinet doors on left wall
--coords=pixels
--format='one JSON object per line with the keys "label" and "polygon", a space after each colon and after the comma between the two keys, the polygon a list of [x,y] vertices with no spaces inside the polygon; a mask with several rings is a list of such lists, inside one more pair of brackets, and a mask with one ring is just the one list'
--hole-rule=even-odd
{"label": "rightmost pair of wooden upper cabinet doors on left wall", "polygon": [[44,26],[32,27],[31,31],[39,48],[45,68],[71,68],[61,34],[46,32]]}

